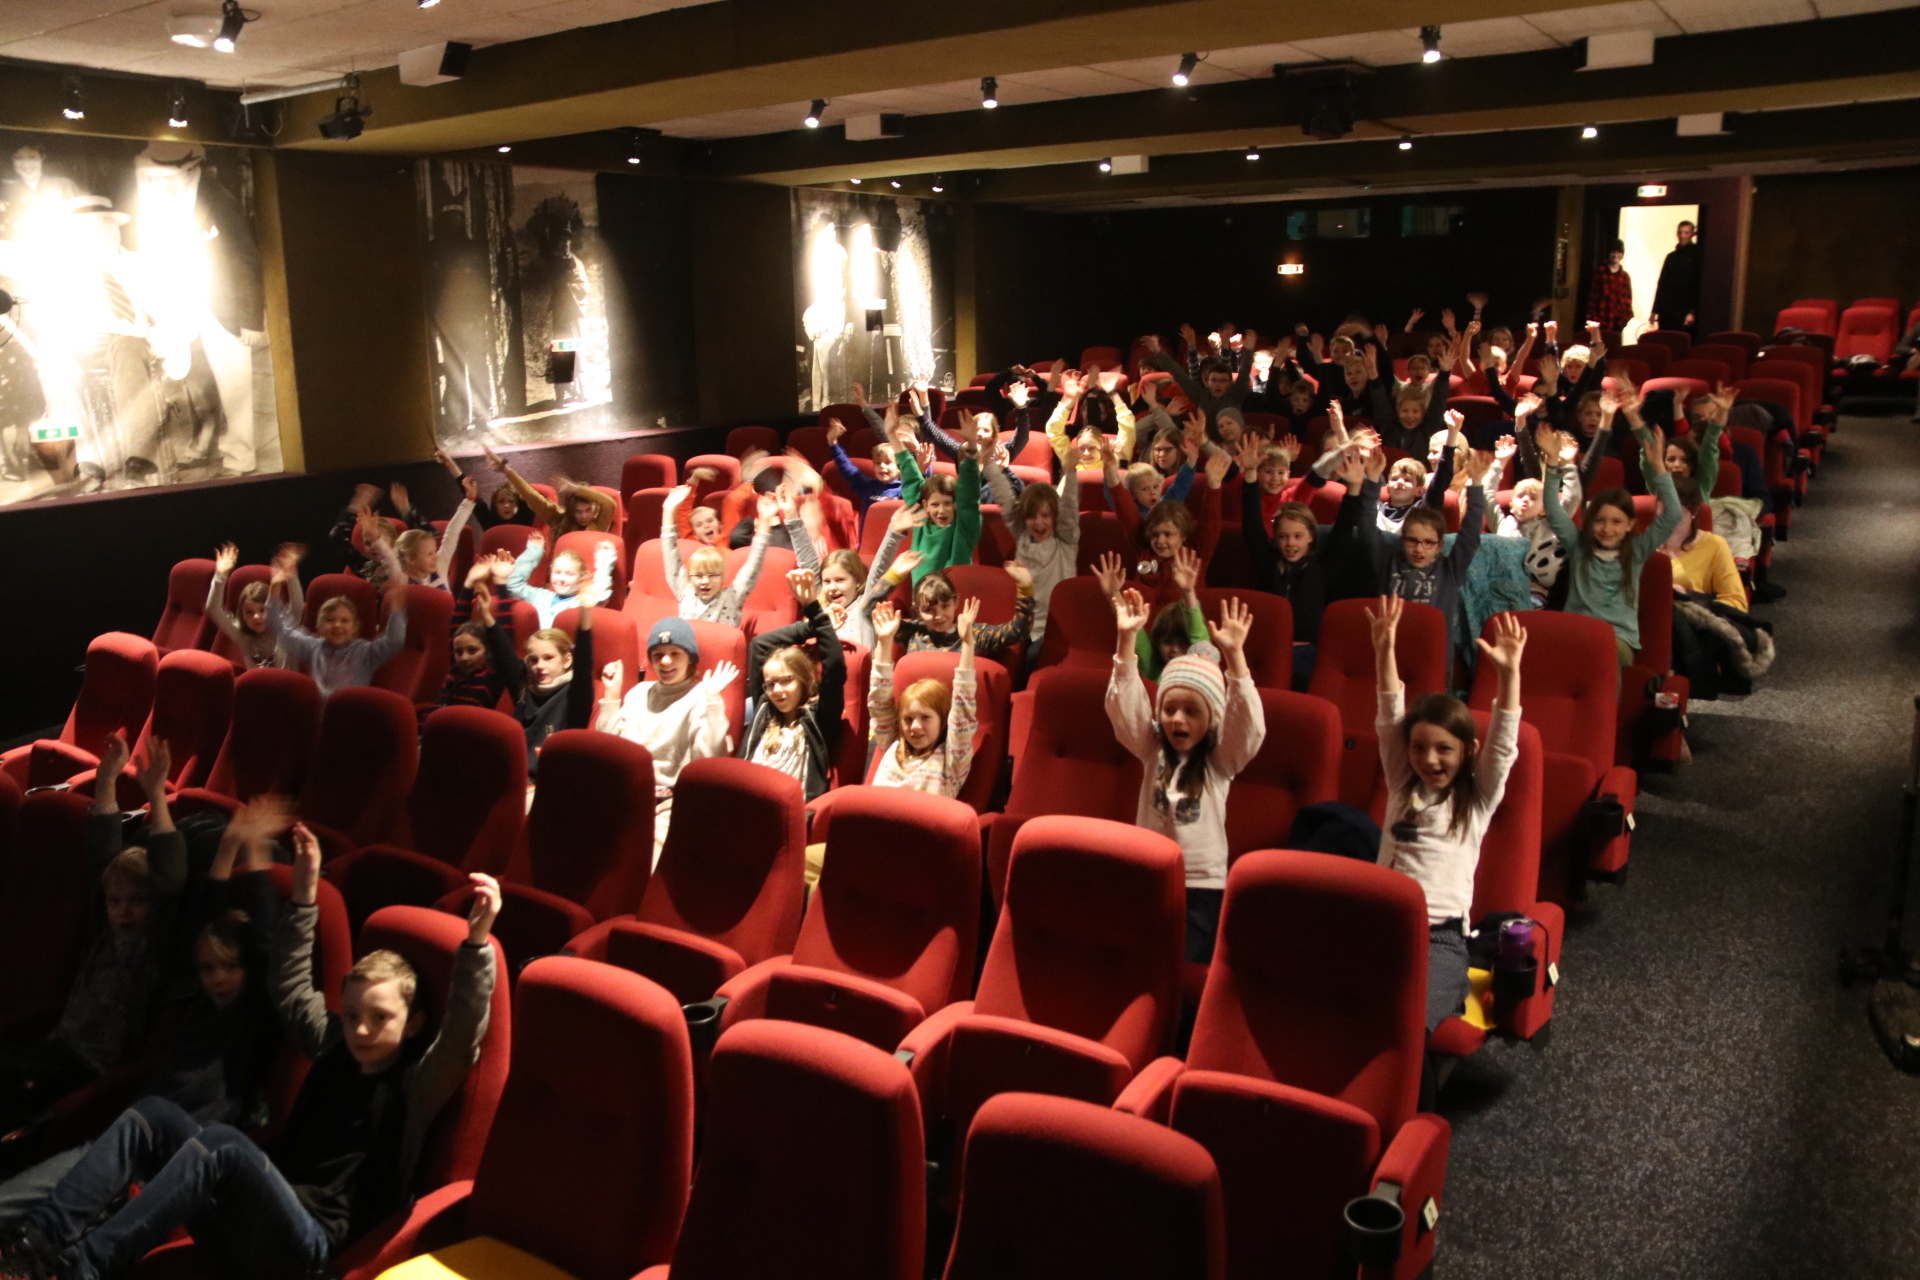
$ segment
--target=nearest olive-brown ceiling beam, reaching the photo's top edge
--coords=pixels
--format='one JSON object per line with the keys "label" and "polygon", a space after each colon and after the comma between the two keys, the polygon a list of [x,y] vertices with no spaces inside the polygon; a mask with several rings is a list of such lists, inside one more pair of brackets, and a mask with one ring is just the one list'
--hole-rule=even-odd
{"label": "nearest olive-brown ceiling beam, reaching the photo's top edge", "polygon": [[[1605,0],[1571,0],[1572,8]],[[620,23],[474,50],[451,84],[361,77],[367,132],[323,144],[332,94],[288,100],[280,146],[451,152],[712,111],[1014,75],[1127,58],[1177,58],[1202,35],[1308,40],[1526,13],[1538,0],[714,0]]]}

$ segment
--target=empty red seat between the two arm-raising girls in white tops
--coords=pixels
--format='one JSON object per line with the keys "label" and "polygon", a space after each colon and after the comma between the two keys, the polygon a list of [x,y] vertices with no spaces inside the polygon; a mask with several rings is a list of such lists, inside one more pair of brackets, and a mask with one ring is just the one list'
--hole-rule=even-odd
{"label": "empty red seat between the two arm-raising girls in white tops", "polygon": [[1267,737],[1227,791],[1227,856],[1284,848],[1294,816],[1340,798],[1340,712],[1327,699],[1260,689]]}

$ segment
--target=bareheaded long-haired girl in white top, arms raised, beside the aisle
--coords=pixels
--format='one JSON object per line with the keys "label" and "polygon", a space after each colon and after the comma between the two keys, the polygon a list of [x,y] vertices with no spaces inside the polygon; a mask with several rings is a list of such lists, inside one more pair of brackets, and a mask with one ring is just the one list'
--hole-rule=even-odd
{"label": "bareheaded long-haired girl in white top, arms raised, beside the aisle", "polygon": [[1380,823],[1382,867],[1404,871],[1427,890],[1427,1031],[1467,1004],[1467,919],[1480,841],[1507,791],[1507,771],[1521,741],[1521,652],[1526,629],[1513,614],[1494,622],[1494,643],[1480,652],[1500,672],[1500,697],[1482,747],[1473,712],[1446,693],[1405,706],[1394,658],[1402,601],[1382,595],[1373,622],[1375,731],[1386,770],[1386,821]]}

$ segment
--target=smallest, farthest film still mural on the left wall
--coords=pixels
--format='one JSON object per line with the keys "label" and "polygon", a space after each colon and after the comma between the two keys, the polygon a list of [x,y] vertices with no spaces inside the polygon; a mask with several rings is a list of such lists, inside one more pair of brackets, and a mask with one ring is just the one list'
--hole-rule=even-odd
{"label": "smallest, farthest film still mural on the left wall", "polygon": [[914,378],[948,391],[952,223],[929,200],[860,192],[793,192],[795,355],[799,409],[879,403]]}

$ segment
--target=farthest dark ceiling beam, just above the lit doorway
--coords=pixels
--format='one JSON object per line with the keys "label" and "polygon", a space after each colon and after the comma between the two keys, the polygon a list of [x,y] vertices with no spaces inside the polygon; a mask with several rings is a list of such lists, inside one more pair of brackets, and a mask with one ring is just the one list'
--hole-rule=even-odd
{"label": "farthest dark ceiling beam, just above the lit doorway", "polygon": [[[1476,182],[1567,180],[1715,165],[1872,159],[1920,155],[1920,100],[1734,115],[1728,132],[1674,134],[1672,121],[1609,125],[1597,138],[1578,129],[1524,129],[1423,138],[1411,152],[1392,140],[1342,142],[1240,154],[1156,157],[1148,173],[1108,175],[1094,165],[1044,165],[950,175],[948,192],[1021,205],[1117,203],[1185,196],[1231,200],[1302,190],[1473,186]],[[927,178],[902,178],[925,194]]]}

